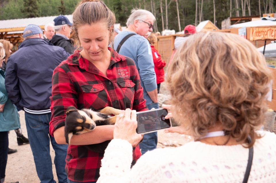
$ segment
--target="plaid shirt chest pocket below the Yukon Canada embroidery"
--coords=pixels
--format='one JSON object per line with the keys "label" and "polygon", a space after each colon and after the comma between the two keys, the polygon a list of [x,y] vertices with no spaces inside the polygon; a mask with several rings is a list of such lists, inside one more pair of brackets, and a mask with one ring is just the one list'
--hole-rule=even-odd
{"label": "plaid shirt chest pocket below the Yukon Canada embroidery", "polygon": [[126,108],[132,109],[134,100],[134,86],[135,83],[132,80],[124,80],[118,82],[122,92],[124,93],[124,100],[126,103]]}

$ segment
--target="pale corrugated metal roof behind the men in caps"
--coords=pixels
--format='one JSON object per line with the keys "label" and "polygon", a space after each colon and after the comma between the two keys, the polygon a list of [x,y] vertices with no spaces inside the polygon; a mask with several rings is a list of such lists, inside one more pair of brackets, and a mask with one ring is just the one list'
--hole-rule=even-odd
{"label": "pale corrugated metal roof behind the men in caps", "polygon": [[[36,18],[21,18],[21,19],[12,19],[12,20],[0,20],[0,29],[5,28],[18,28],[18,27],[26,27],[29,24],[35,24],[38,26],[43,26],[48,23],[54,23],[53,20],[56,16],[48,16],[48,17],[36,17]],[[72,22],[72,15],[65,15],[70,22]]]}

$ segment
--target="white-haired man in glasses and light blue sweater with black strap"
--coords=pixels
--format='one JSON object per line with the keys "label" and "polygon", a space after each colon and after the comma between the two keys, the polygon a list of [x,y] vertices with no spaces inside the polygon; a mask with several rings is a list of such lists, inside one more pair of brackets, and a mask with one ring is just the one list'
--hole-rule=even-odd
{"label": "white-haired man in glasses and light blue sweater with black strap", "polygon": [[[145,38],[148,32],[152,32],[154,21],[155,17],[150,11],[133,9],[127,20],[127,29],[121,31],[114,38],[114,49],[135,62],[148,109],[159,108],[152,50],[150,43]],[[145,134],[143,142],[139,144],[142,154],[156,149],[156,145],[157,132]]]}

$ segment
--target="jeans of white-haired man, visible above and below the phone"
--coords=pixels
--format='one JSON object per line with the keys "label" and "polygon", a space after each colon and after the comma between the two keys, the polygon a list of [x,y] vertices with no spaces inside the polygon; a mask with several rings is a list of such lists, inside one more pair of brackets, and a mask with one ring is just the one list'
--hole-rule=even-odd
{"label": "jeans of white-haired man, visible above and below the phone", "polygon": [[[147,105],[147,108],[150,110],[152,108],[158,109],[158,103],[150,103]],[[143,142],[139,144],[142,155],[147,151],[156,149],[157,146],[157,132],[144,134]]]}

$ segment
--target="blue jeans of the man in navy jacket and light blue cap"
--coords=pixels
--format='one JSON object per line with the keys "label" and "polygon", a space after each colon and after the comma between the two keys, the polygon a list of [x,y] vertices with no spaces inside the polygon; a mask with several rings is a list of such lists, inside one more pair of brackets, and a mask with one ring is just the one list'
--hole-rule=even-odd
{"label": "blue jeans of the man in navy jacket and light blue cap", "polygon": [[55,142],[55,138],[49,135],[49,122],[51,113],[32,115],[25,112],[25,120],[35,168],[41,183],[56,183],[53,179],[52,160],[50,155],[50,141],[55,150],[55,169],[59,183],[67,183],[65,173],[65,158],[68,145]]}

